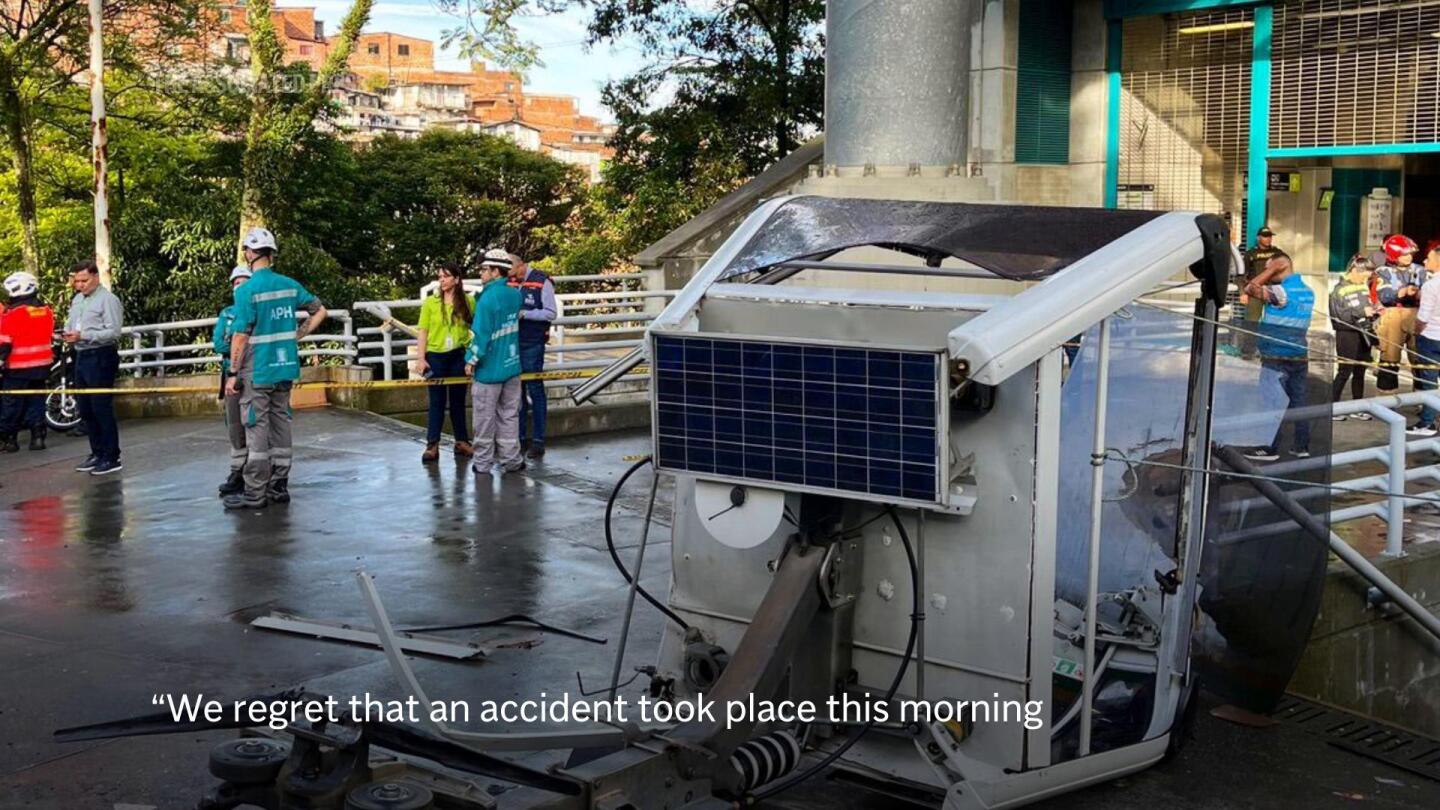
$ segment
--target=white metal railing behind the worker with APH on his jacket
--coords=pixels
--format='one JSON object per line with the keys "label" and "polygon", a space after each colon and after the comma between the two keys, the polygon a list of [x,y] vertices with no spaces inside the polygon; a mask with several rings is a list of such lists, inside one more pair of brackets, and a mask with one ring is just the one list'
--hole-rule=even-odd
{"label": "white metal railing behind the worker with APH on his jacket", "polygon": [[[307,317],[308,313],[301,313],[297,320]],[[120,350],[120,369],[135,376],[151,373],[157,378],[166,376],[171,369],[184,369],[189,373],[209,370],[209,366],[220,363],[220,356],[215,353],[210,340],[215,321],[212,317],[122,327],[120,340],[125,347]],[[353,365],[357,355],[356,343],[350,311],[328,310],[321,331],[300,340],[300,356],[301,359],[341,357]]]}

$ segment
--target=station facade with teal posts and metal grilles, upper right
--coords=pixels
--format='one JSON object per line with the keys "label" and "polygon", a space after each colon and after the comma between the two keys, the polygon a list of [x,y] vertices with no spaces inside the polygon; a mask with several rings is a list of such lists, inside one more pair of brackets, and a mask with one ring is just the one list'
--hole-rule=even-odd
{"label": "station facade with teal posts and metal grilles, upper right", "polygon": [[1246,245],[1269,225],[1306,274],[1440,236],[1440,1],[1018,6],[1017,177],[1066,164],[1064,202],[1220,213]]}

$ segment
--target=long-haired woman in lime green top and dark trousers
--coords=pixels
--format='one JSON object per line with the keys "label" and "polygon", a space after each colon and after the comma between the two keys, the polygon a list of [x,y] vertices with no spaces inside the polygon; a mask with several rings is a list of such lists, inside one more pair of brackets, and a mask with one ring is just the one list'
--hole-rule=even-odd
{"label": "long-haired woman in lime green top and dark trousers", "polygon": [[[474,301],[465,293],[465,272],[459,265],[442,264],[435,275],[439,291],[420,304],[419,372],[425,379],[465,376],[465,347],[469,346],[469,319]],[[431,411],[425,430],[425,453],[420,461],[426,464],[441,455],[441,428],[445,427],[445,408],[449,406],[451,428],[455,431],[455,457],[469,458],[469,421],[465,419],[465,382],[454,385],[432,385]]]}

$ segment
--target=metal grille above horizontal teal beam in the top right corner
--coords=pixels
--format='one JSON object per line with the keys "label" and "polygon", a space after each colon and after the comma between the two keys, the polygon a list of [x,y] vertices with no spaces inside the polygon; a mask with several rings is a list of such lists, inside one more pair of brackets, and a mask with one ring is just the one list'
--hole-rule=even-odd
{"label": "metal grille above horizontal teal beam in the top right corner", "polygon": [[1440,141],[1440,1],[1277,3],[1270,147]]}

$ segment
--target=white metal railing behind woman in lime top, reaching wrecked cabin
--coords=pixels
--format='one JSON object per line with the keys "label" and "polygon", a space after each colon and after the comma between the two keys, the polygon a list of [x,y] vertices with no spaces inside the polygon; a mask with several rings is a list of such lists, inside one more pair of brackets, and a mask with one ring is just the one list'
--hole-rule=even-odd
{"label": "white metal railing behind woman in lime top, reaching wrecked cabin", "polygon": [[[552,275],[550,281],[557,288],[570,284],[645,281],[644,272],[621,272],[602,275]],[[356,330],[356,350],[359,365],[377,366],[383,379],[395,379],[397,366],[413,360],[416,349],[415,327],[412,323],[418,316],[413,310],[420,307],[426,295],[436,291],[438,282],[431,281],[420,288],[420,297],[387,300],[387,301],[356,301],[353,310],[357,314],[367,314],[379,321],[377,326],[361,326]],[[478,291],[480,282],[469,280],[465,282],[469,291]],[[546,370],[590,370],[602,369],[615,359],[641,344],[645,327],[664,308],[664,303],[674,297],[668,290],[600,290],[556,293],[556,307],[559,310],[552,323],[550,343],[546,346]],[[405,313],[399,317],[396,313]],[[408,372],[399,372],[408,373]],[[547,388],[570,386],[575,380],[554,379],[546,380]]]}

